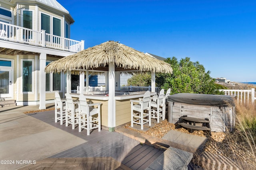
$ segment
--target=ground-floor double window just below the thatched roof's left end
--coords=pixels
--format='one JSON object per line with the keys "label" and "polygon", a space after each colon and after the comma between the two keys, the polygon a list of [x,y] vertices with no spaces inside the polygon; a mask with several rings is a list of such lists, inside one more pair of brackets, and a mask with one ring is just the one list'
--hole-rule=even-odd
{"label": "ground-floor double window just below the thatched roof's left end", "polygon": [[[46,66],[50,62],[46,62]],[[46,74],[46,92],[51,92],[51,91],[60,91],[61,90],[61,74],[58,73],[50,73]]]}

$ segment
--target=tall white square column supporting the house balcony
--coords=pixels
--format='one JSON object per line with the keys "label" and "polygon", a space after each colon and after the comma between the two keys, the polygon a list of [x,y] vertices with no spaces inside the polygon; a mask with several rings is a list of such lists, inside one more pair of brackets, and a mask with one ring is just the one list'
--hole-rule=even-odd
{"label": "tall white square column supporting the house balcony", "polygon": [[46,67],[46,53],[41,53],[40,58],[40,70],[39,70],[39,109],[46,109],[46,96],[45,96],[45,88],[46,88],[46,74],[44,72],[44,68]]}

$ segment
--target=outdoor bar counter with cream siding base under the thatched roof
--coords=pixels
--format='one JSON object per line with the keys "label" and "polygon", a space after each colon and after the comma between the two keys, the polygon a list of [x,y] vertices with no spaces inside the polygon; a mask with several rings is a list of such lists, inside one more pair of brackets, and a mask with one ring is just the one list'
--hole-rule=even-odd
{"label": "outdoor bar counter with cream siding base under the thatched roof", "polygon": [[[131,103],[130,100],[139,100],[143,98],[145,92],[119,92],[116,91],[115,102],[116,102],[116,113],[108,113],[108,91],[104,92],[87,92],[87,102],[102,103],[101,105],[101,122],[102,125],[108,127],[108,116],[115,114],[115,124],[117,126],[123,125],[131,121]],[[71,93],[73,98],[79,98],[80,94]],[[150,95],[156,95],[156,92],[150,92]]]}

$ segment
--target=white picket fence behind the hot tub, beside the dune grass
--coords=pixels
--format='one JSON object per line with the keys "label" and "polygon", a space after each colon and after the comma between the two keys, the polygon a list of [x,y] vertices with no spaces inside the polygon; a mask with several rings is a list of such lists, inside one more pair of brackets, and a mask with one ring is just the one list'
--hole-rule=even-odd
{"label": "white picket fence behind the hot tub, beside the dune grass", "polygon": [[236,96],[237,101],[239,102],[249,102],[251,101],[254,103],[254,100],[256,100],[255,97],[255,90],[252,88],[251,90],[226,90],[226,89],[221,89],[220,91],[225,92],[225,95],[229,96]]}

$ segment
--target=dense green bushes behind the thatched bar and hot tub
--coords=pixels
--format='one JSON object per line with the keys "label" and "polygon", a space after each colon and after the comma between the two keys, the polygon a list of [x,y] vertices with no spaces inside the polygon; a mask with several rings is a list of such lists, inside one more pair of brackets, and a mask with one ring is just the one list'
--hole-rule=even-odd
{"label": "dense green bushes behind the thatched bar and hot tub", "polygon": [[[166,63],[171,64],[172,74],[156,74],[156,86],[167,90],[171,88],[171,94],[175,93],[198,93],[198,94],[223,94],[215,84],[215,79],[210,77],[210,71],[198,61],[192,62],[186,57],[178,61],[176,57],[168,58]],[[151,84],[151,74],[137,73],[128,79],[128,86],[149,86]]]}

